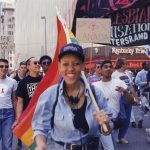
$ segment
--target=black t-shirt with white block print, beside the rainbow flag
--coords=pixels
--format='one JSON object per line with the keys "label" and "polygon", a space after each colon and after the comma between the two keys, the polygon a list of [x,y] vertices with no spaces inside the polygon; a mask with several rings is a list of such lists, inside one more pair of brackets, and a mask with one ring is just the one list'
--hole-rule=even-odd
{"label": "black t-shirt with white block print, beside the rainbow flag", "polygon": [[27,108],[33,93],[41,80],[42,76],[31,77],[28,75],[19,82],[16,95],[23,98],[23,110]]}

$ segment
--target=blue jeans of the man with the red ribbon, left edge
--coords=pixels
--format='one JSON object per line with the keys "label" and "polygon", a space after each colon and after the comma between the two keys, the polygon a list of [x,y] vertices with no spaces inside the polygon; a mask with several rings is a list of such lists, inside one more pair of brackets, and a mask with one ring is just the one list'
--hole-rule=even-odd
{"label": "blue jeans of the man with the red ribbon, left edge", "polygon": [[0,137],[2,138],[2,150],[12,150],[12,124],[14,122],[14,110],[0,109]]}

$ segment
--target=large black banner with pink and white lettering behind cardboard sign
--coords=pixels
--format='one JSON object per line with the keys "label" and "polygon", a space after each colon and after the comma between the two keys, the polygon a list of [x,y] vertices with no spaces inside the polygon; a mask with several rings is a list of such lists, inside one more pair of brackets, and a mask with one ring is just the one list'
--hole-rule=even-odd
{"label": "large black banner with pink and white lettering behind cardboard sign", "polygon": [[148,0],[78,0],[76,18],[111,18],[111,45],[138,46],[150,41],[150,1]]}

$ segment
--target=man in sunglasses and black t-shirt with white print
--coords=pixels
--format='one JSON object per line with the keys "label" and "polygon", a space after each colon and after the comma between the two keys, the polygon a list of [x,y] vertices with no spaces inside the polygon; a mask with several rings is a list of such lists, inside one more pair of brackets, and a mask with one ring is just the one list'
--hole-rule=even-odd
{"label": "man in sunglasses and black t-shirt with white print", "polygon": [[38,59],[31,57],[26,61],[28,75],[19,82],[16,96],[17,96],[17,115],[13,128],[18,124],[18,119],[22,112],[27,108],[34,91],[36,90],[38,84],[42,80],[40,76],[40,64]]}

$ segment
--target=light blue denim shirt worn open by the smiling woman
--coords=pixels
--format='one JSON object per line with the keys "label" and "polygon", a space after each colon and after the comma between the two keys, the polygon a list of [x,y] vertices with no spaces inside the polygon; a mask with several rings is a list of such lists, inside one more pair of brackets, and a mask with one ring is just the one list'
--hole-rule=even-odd
{"label": "light blue denim shirt worn open by the smiling woman", "polygon": [[[87,138],[92,135],[96,135],[99,129],[99,125],[96,123],[93,117],[95,107],[89,96],[89,91],[85,87],[84,95],[87,99],[87,106],[85,111],[85,117],[89,126],[89,131],[86,134],[82,134],[73,125],[73,113],[70,106],[65,102],[63,96],[63,83],[62,81],[59,86],[58,102],[55,108],[54,116],[54,128],[51,128],[51,117],[54,102],[56,100],[57,86],[54,85],[49,87],[39,97],[35,113],[32,120],[32,128],[34,131],[34,137],[38,134],[44,135],[46,138],[52,138],[55,141],[62,141],[64,143],[81,144],[86,142]],[[95,87],[95,93],[97,98],[98,106],[105,110],[109,115],[112,114],[111,109],[107,105],[103,93],[98,87]]]}

